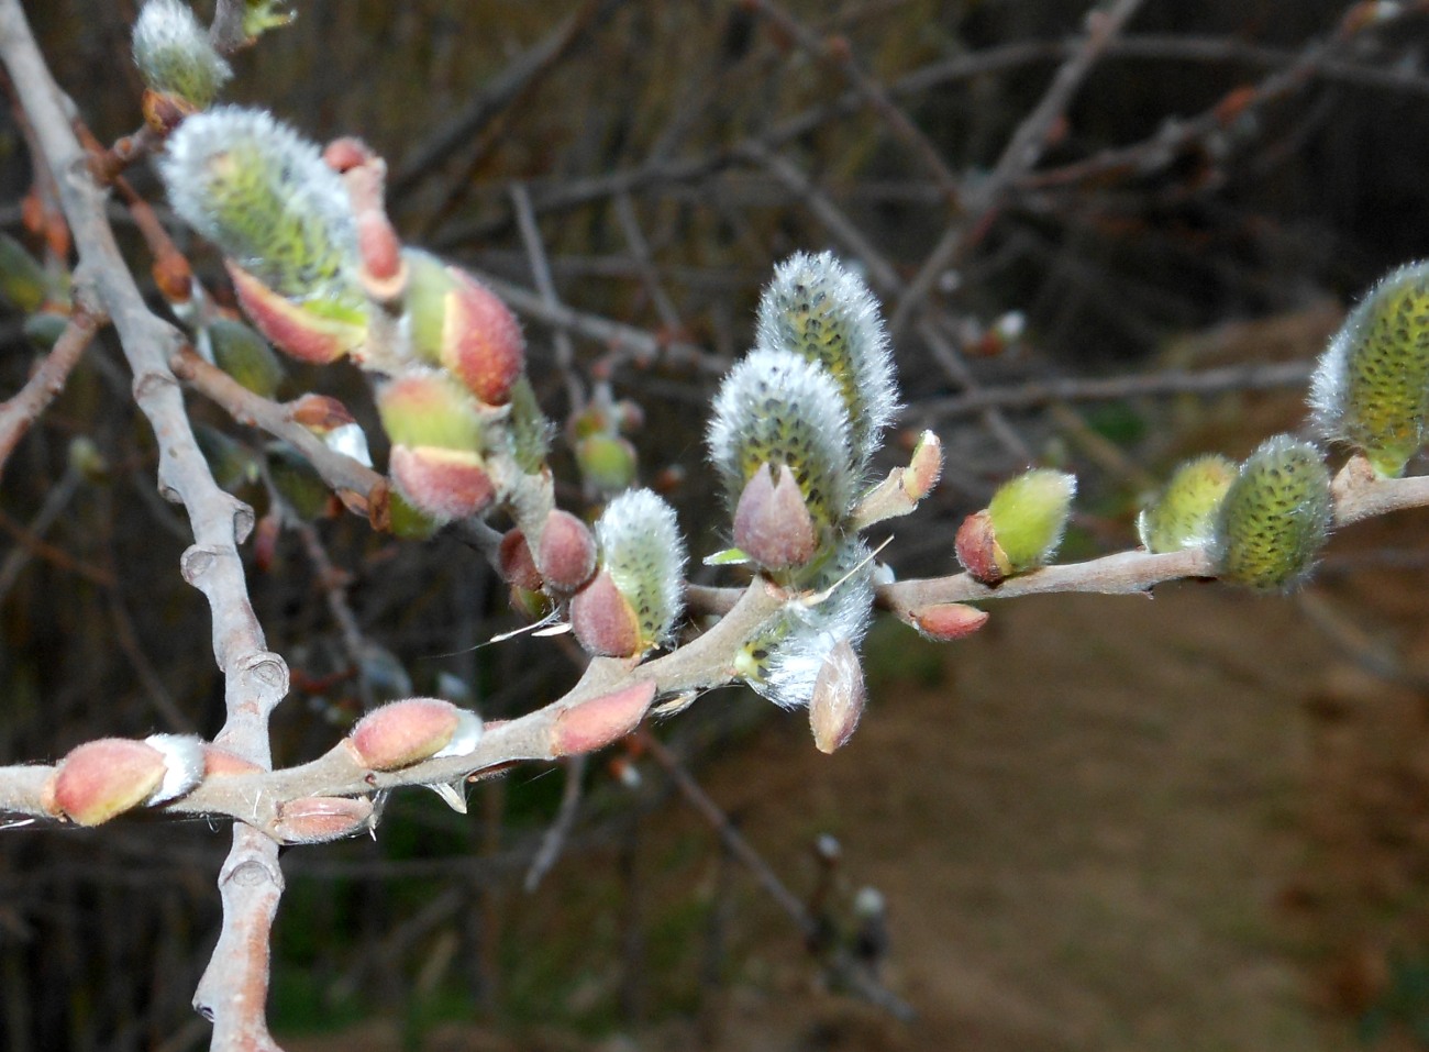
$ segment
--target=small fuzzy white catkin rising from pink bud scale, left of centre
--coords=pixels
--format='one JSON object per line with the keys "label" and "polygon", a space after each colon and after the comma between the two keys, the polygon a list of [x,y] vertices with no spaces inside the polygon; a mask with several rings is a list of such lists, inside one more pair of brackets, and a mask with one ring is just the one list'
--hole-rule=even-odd
{"label": "small fuzzy white catkin rising from pink bud scale, left of centre", "polygon": [[652,490],[626,490],[596,522],[596,545],[642,635],[653,646],[667,642],[684,612],[684,539],[674,509]]}

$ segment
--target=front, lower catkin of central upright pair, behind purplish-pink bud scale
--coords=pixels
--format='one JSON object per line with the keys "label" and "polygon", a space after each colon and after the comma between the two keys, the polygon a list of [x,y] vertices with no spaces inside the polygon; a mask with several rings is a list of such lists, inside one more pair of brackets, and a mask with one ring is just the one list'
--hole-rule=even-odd
{"label": "front, lower catkin of central upright pair, behind purplish-pink bud scale", "polygon": [[755,350],[730,370],[714,399],[710,459],[730,507],[765,465],[789,469],[813,520],[843,520],[853,495],[849,419],[822,367],[782,350]]}

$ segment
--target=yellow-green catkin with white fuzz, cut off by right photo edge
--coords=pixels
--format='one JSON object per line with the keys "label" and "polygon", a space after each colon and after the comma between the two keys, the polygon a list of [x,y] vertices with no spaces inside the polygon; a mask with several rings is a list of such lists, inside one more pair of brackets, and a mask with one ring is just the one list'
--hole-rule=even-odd
{"label": "yellow-green catkin with white fuzz, cut off by right photo edge", "polygon": [[1429,419],[1429,262],[1395,270],[1355,307],[1320,356],[1310,407],[1326,439],[1380,476],[1403,475]]}

